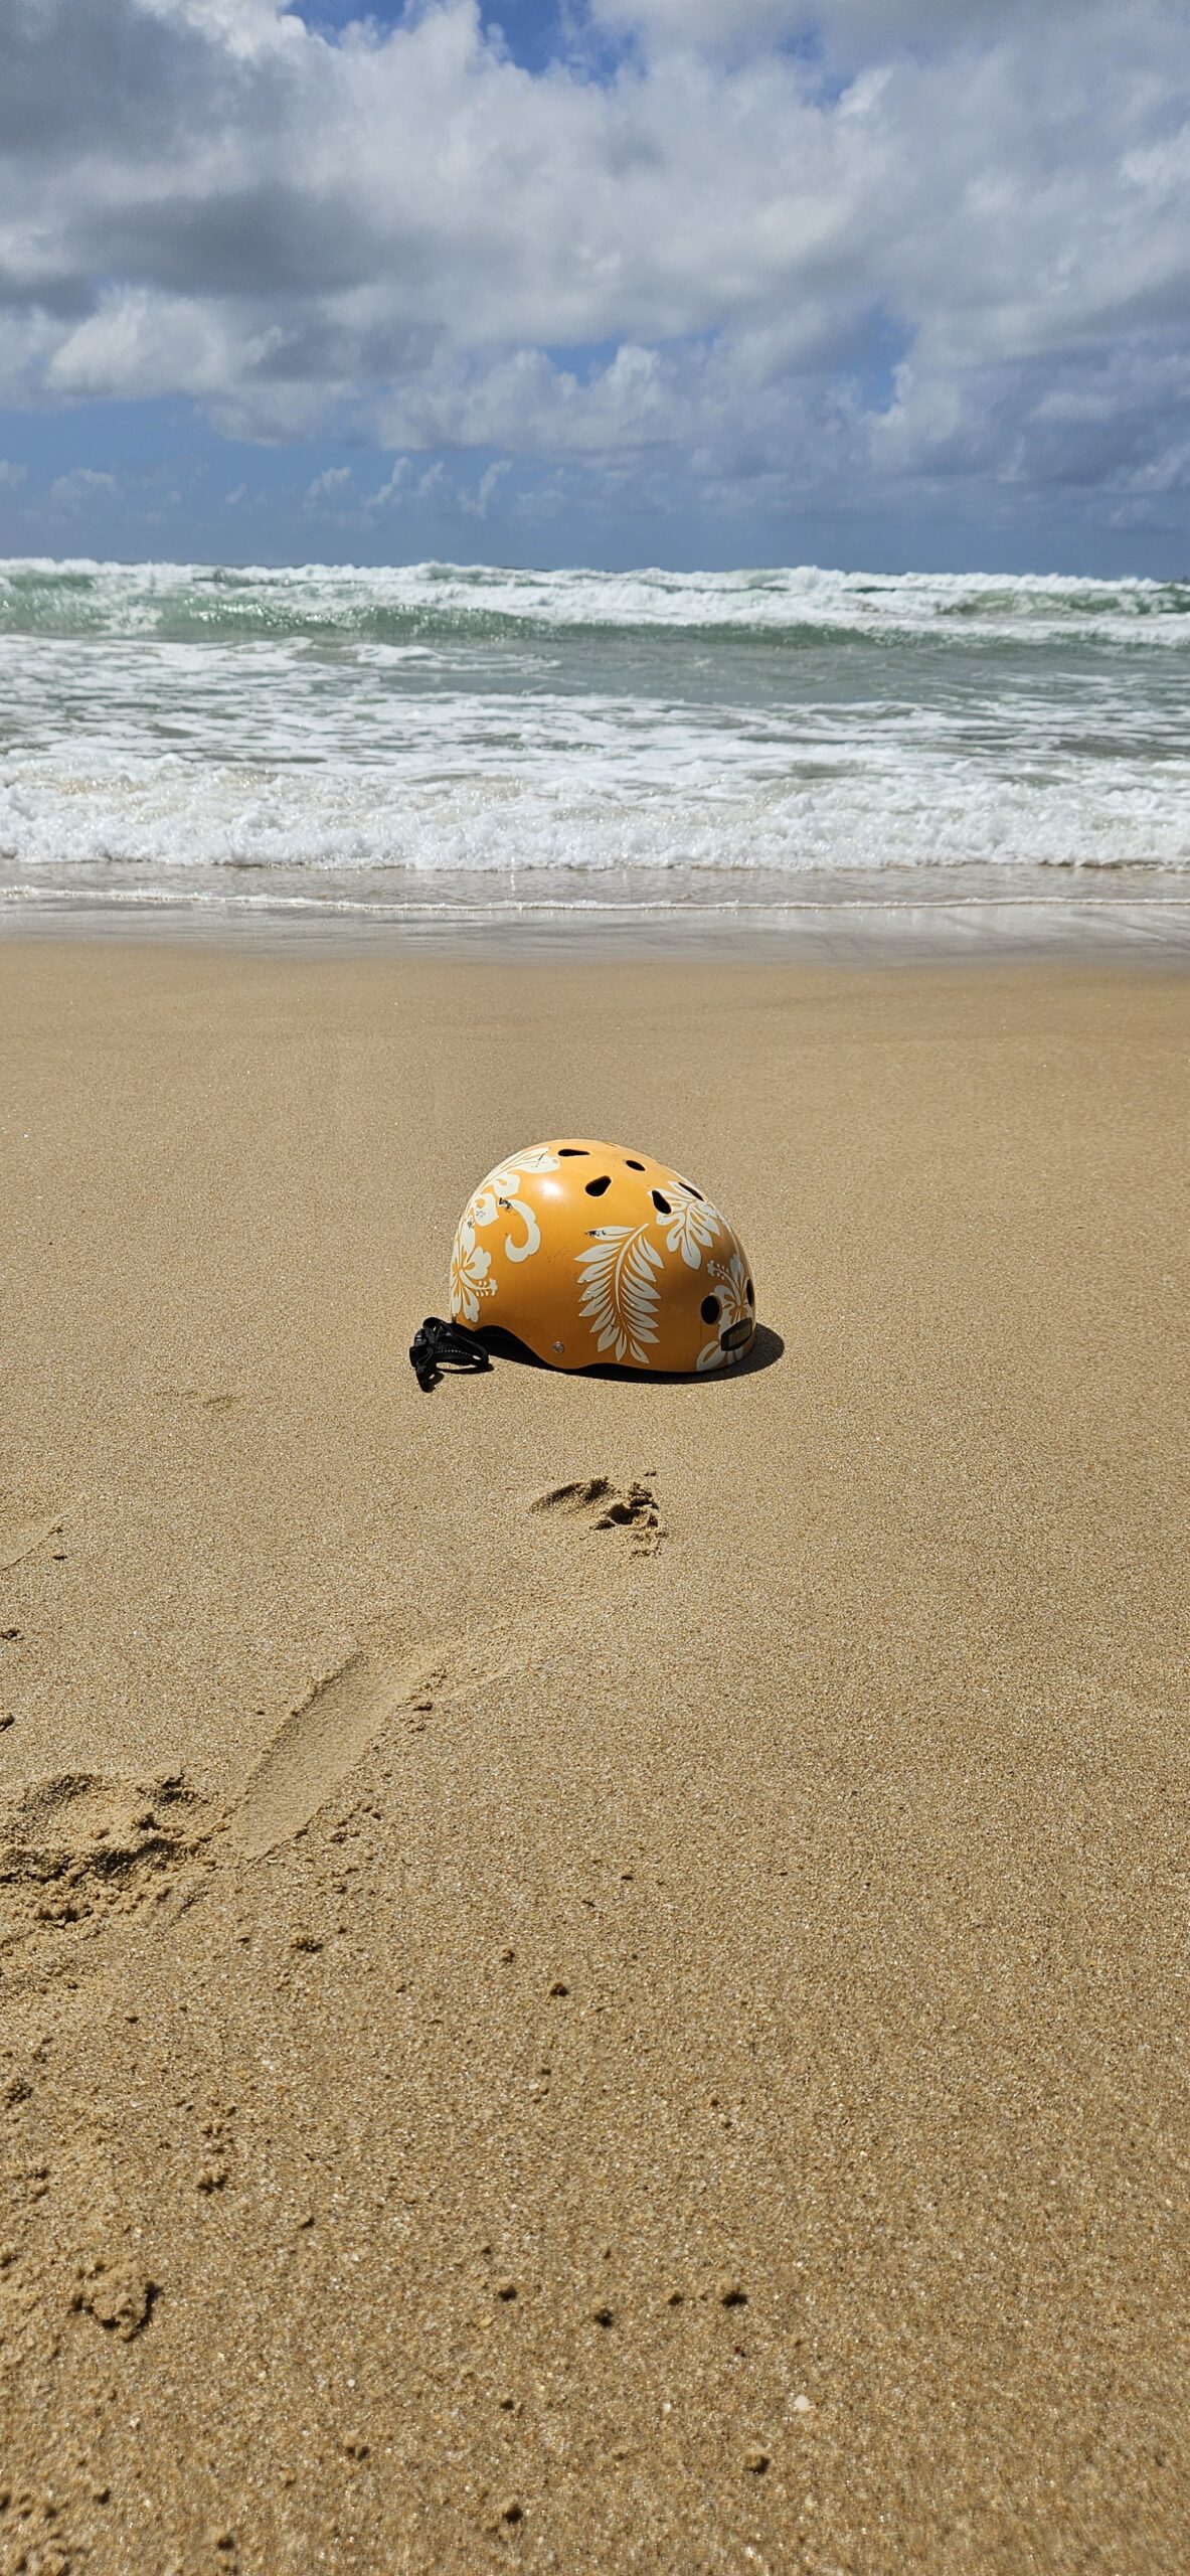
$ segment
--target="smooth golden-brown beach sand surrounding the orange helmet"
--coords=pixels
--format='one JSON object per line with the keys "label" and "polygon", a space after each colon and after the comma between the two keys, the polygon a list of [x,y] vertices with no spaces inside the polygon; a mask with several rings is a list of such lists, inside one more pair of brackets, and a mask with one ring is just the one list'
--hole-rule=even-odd
{"label": "smooth golden-brown beach sand surrounding the orange helmet", "polygon": [[[5,2576],[1190,2563],[1187,1033],[0,948]],[[567,1126],[768,1365],[417,1391]]]}

